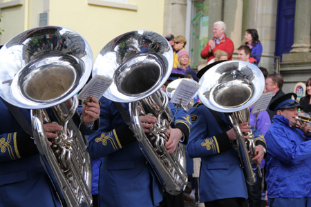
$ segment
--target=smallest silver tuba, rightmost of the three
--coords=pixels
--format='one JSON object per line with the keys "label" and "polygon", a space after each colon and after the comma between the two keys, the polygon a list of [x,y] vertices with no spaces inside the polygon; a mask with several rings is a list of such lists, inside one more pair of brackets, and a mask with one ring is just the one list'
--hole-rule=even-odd
{"label": "smallest silver tuba, rightmost of the three", "polygon": [[[256,181],[252,158],[256,154],[254,135],[244,139],[239,124],[249,121],[249,106],[262,95],[265,79],[261,70],[245,61],[225,61],[211,67],[200,79],[198,95],[211,110],[229,112],[229,120],[236,132],[236,149],[248,184]],[[258,173],[261,174],[259,166]]]}

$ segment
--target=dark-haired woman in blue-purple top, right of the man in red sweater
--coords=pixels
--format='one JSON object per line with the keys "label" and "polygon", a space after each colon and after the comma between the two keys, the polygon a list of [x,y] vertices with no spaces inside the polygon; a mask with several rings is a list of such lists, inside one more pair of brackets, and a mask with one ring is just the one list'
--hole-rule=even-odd
{"label": "dark-haired woman in blue-purple top, right of the man in red sweater", "polygon": [[[263,46],[261,41],[259,41],[258,32],[256,29],[247,29],[245,31],[245,45],[249,46],[252,50],[252,55],[261,55],[263,54]],[[252,56],[251,56],[252,57]],[[257,64],[261,61],[261,57],[253,56],[256,59]]]}

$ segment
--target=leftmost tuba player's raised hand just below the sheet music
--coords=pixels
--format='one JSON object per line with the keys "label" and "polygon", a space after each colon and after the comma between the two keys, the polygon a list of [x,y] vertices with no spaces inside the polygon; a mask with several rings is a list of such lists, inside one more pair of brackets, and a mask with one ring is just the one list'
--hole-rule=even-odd
{"label": "leftmost tuba player's raised hand just below the sheet music", "polygon": [[100,104],[97,99],[91,97],[89,101],[84,103],[82,108],[83,124],[92,124],[98,117],[100,117]]}

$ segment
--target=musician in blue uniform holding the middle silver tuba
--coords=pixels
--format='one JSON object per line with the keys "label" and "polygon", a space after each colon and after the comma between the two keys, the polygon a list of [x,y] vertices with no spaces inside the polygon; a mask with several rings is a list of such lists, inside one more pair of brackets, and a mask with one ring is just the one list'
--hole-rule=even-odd
{"label": "musician in blue uniform holding the middle silver tuba", "polygon": [[[158,206],[163,188],[144,157],[133,132],[126,125],[113,101],[100,99],[100,128],[88,136],[92,159],[102,157],[100,166],[100,206]],[[120,103],[122,113],[129,116],[129,103]],[[176,108],[169,103],[171,115]],[[150,132],[155,117],[140,116],[144,132]],[[170,120],[169,120],[170,121]],[[187,111],[178,109],[169,140],[165,147],[169,153],[179,141],[187,143],[191,119]]]}

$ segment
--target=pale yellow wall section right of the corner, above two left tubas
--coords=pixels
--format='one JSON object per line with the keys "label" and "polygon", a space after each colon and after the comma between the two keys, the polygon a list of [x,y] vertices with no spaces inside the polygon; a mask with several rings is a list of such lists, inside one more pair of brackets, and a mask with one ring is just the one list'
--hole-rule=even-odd
{"label": "pale yellow wall section right of the corner, above two left tubas", "polygon": [[[111,39],[132,30],[162,34],[164,0],[129,0],[138,10],[89,5],[87,0],[50,1],[50,25],[75,30],[88,41],[96,57]],[[57,11],[57,12],[55,12]]]}

